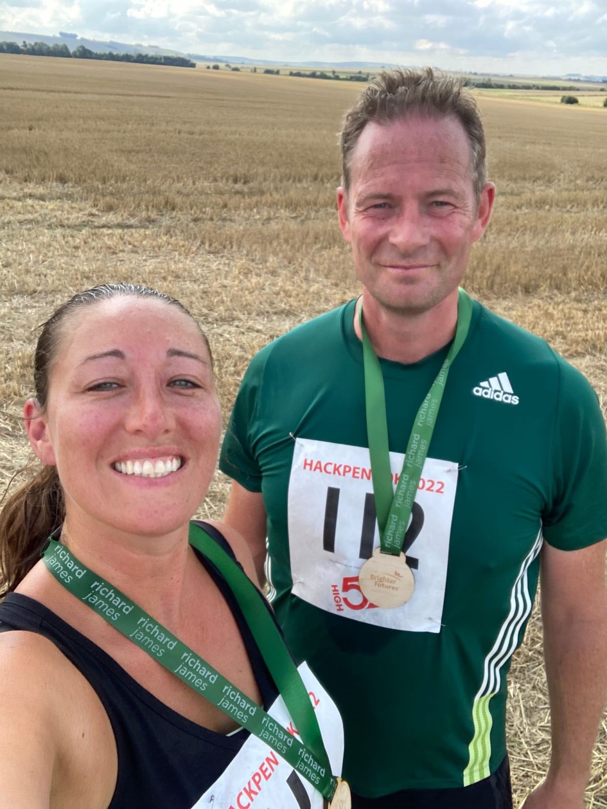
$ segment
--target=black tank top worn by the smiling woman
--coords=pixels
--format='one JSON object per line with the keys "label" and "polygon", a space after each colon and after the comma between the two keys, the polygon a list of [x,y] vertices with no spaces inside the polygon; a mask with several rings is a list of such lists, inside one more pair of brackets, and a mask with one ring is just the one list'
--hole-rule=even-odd
{"label": "black tank top worn by the smiling woman", "polygon": [[[234,558],[221,533],[200,524]],[[268,709],[276,699],[276,687],[242,611],[217,568],[196,554],[234,613]],[[249,737],[244,730],[221,735],[177,714],[99,646],[26,595],[6,596],[0,604],[0,629],[25,629],[48,637],[95,689],[112,723],[118,751],[116,791],[108,809],[192,809]]]}

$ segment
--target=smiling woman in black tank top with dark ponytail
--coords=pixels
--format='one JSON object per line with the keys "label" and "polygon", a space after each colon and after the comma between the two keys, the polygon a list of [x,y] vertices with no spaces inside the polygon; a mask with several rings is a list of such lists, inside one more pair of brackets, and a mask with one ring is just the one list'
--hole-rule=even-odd
{"label": "smiling woman in black tank top with dark ponytail", "polygon": [[[44,324],[34,375],[36,397],[23,413],[44,470],[0,515],[8,592],[0,605],[0,809],[242,809],[262,790],[264,806],[286,809],[304,805],[301,788],[321,807],[314,773],[297,775],[240,730],[234,711],[205,699],[204,684],[191,687],[189,670],[190,680],[179,680],[133,642],[135,633],[112,625],[111,605],[133,602],[147,614],[139,625],[150,643],[178,638],[188,648],[183,660],[203,661],[242,705],[273,704],[288,724],[221,566],[188,544],[221,430],[196,321],[155,290],[95,287]],[[221,523],[205,527],[253,578],[242,538]],[[61,545],[53,541],[40,560],[51,533]],[[66,589],[86,569],[96,593],[88,599]],[[318,701],[310,713],[335,772],[339,715],[311,673],[301,676]]]}

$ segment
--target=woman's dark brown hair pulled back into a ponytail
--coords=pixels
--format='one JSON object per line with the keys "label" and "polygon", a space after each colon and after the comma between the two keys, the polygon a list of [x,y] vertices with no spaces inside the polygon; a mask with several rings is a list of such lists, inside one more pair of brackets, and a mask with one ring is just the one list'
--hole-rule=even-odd
{"label": "woman's dark brown hair pulled back into a ponytail", "polygon": [[[40,327],[34,354],[34,391],[40,411],[44,412],[48,402],[50,371],[61,342],[61,329],[72,312],[119,297],[151,298],[177,307],[196,323],[211,356],[209,341],[191,312],[170,295],[141,284],[123,282],[94,286],[63,303]],[[0,596],[15,590],[32,570],[48,536],[61,526],[64,517],[63,492],[54,466],[45,466],[8,499],[0,512]]]}

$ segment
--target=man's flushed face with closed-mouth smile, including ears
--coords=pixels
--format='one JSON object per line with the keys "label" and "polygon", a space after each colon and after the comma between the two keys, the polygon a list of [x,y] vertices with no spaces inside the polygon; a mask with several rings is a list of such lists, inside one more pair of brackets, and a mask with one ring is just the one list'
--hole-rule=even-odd
{"label": "man's flushed face with closed-mouth smile, including ears", "polygon": [[356,274],[382,308],[419,314],[457,289],[495,188],[474,197],[470,144],[454,117],[368,124],[352,153],[339,225]]}

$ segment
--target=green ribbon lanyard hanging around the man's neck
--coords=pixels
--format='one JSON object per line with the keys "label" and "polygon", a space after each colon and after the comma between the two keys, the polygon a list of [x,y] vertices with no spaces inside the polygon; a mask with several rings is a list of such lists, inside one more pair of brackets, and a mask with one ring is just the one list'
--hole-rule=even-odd
{"label": "green ribbon lanyard hanging around the man's neck", "polygon": [[395,556],[403,549],[403,542],[415,493],[419,486],[419,478],[428,457],[428,449],[440,409],[440,401],[445,392],[445,383],[449,368],[462,348],[470,328],[472,319],[472,301],[460,287],[457,301],[457,331],[455,339],[440,367],[432,388],[428,391],[415,416],[413,429],[407,444],[407,453],[403,460],[403,470],[398,478],[396,490],[392,488],[392,472],[390,470],[390,451],[388,445],[388,424],[386,421],[386,394],[381,365],[362,319],[362,302],[358,314],[360,332],[363,337],[363,362],[365,366],[365,405],[367,411],[367,436],[369,438],[369,455],[371,458],[371,478],[377,512],[377,526],[381,542],[381,552]]}

